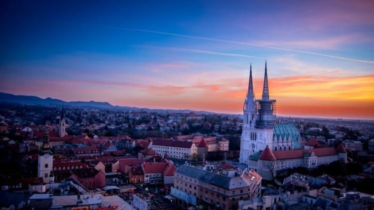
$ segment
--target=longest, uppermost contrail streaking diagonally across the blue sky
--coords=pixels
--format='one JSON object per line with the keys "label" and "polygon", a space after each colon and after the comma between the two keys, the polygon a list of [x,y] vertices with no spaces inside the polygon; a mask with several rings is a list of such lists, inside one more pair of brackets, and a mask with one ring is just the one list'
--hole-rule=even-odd
{"label": "longest, uppermost contrail streaking diagonally across the blue sky", "polygon": [[[45,22],[51,22],[51,21],[45,21]],[[370,60],[361,60],[361,59],[355,59],[355,58],[328,55],[328,54],[323,54],[323,53],[308,52],[308,51],[294,50],[294,49],[281,48],[281,47],[272,47],[272,46],[262,45],[262,44],[253,44],[253,43],[240,42],[240,41],[216,39],[216,38],[209,38],[209,37],[203,37],[203,36],[191,36],[191,35],[185,35],[185,34],[179,34],[179,33],[169,33],[169,32],[163,32],[163,31],[145,30],[145,29],[137,29],[137,28],[114,27],[114,26],[100,26],[100,25],[80,24],[80,23],[63,22],[63,24],[72,24],[72,25],[81,25],[81,26],[89,26],[89,27],[101,27],[101,28],[111,28],[111,29],[127,30],[127,31],[139,31],[139,32],[147,32],[147,33],[165,34],[165,35],[170,35],[170,36],[179,36],[179,37],[186,37],[186,38],[192,38],[192,39],[202,39],[202,40],[210,40],[210,41],[224,42],[224,43],[231,43],[231,44],[240,44],[240,45],[247,45],[247,46],[254,46],[254,47],[263,47],[263,48],[268,48],[268,49],[275,49],[275,50],[283,50],[283,51],[289,51],[289,52],[304,53],[304,54],[309,54],[309,55],[324,56],[324,57],[335,58],[335,59],[346,60],[346,61],[355,61],[355,62],[361,62],[361,63],[374,64],[374,61],[370,61]]]}

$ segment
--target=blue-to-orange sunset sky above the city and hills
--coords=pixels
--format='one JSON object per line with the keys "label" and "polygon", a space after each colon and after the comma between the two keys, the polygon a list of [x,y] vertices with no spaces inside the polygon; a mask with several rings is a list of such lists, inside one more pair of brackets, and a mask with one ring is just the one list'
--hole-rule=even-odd
{"label": "blue-to-orange sunset sky above the city and hills", "polygon": [[0,2],[0,92],[242,113],[267,60],[277,114],[374,119],[374,1]]}

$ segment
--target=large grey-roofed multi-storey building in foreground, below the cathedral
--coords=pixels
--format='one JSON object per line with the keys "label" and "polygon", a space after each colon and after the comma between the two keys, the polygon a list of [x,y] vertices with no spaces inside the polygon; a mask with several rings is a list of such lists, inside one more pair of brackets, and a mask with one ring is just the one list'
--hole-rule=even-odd
{"label": "large grey-roofed multi-storey building in foreground, below the cathedral", "polygon": [[254,171],[222,175],[183,165],[176,170],[174,187],[217,209],[230,210],[238,207],[239,200],[261,196],[261,180]]}

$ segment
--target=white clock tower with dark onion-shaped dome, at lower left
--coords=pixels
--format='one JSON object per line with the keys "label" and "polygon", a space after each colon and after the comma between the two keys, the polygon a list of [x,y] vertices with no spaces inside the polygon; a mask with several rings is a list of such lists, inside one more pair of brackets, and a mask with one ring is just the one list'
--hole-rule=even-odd
{"label": "white clock tower with dark onion-shaped dome, at lower left", "polygon": [[49,145],[48,132],[44,133],[43,144],[38,154],[38,177],[43,178],[43,183],[53,183],[53,154]]}

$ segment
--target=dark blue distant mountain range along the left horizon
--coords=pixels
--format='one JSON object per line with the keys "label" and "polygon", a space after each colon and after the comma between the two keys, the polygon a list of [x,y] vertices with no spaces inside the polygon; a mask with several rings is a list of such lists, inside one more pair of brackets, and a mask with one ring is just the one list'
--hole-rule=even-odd
{"label": "dark blue distant mountain range along the left horizon", "polygon": [[10,102],[10,103],[19,103],[19,104],[29,104],[29,105],[45,105],[45,106],[72,106],[72,107],[81,107],[81,108],[102,108],[102,109],[116,109],[124,111],[156,111],[156,112],[169,112],[169,113],[187,113],[195,112],[199,114],[215,114],[210,111],[195,111],[190,109],[150,109],[150,108],[139,108],[139,107],[130,107],[130,106],[118,106],[111,105],[108,102],[65,102],[59,99],[46,98],[42,99],[36,96],[22,96],[22,95],[13,95],[7,93],[0,93],[0,102]]}

